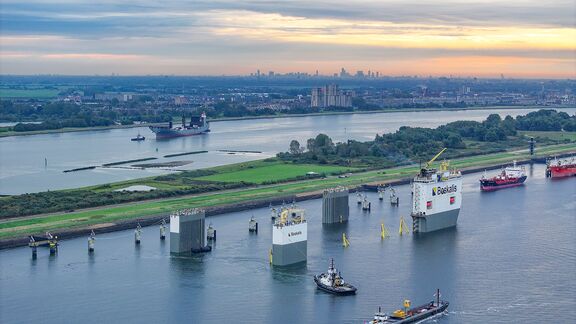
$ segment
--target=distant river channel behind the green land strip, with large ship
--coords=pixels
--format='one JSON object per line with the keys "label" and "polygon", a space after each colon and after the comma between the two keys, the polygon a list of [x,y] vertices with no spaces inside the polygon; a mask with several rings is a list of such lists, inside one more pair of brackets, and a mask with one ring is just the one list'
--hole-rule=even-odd
{"label": "distant river channel behind the green land strip, with large ship", "polygon": [[[575,114],[576,108],[559,109]],[[208,135],[156,140],[148,128],[113,129],[76,133],[43,134],[0,138],[0,194],[21,194],[55,189],[77,188],[114,181],[136,179],[170,171],[97,168],[62,173],[90,165],[157,157],[151,162],[193,161],[179,170],[206,168],[235,162],[262,159],[287,151],[290,140],[302,145],[325,133],[335,141],[371,140],[379,133],[400,126],[436,127],[455,120],[481,121],[489,114],[526,114],[530,109],[398,112],[223,121],[211,124]],[[131,142],[140,132],[144,142]],[[156,151],[158,150],[158,151]],[[162,158],[166,154],[207,150],[206,154]],[[256,150],[261,154],[228,154],[218,150]],[[45,165],[45,159],[47,165]]]}

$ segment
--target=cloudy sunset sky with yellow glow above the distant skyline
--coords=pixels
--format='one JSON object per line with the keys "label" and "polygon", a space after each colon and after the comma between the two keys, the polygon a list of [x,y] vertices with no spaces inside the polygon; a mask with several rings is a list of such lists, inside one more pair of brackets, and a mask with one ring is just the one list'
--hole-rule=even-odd
{"label": "cloudy sunset sky with yellow glow above the distant skyline", "polygon": [[574,0],[0,0],[0,73],[576,78]]}

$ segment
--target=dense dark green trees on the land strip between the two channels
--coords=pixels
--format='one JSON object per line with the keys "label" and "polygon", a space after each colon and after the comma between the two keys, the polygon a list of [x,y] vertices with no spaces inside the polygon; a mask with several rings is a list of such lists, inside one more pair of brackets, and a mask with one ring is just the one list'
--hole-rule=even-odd
{"label": "dense dark green trees on the land strip between the two channels", "polygon": [[[466,141],[477,142],[503,142],[509,141],[510,137],[517,135],[525,125],[532,125],[532,129],[541,130],[537,125],[545,125],[542,120],[560,118],[563,125],[571,125],[570,122],[576,117],[555,111],[541,110],[530,113],[527,116],[518,116],[514,119],[506,116],[502,119],[498,114],[492,114],[483,122],[456,121],[435,129],[421,127],[400,127],[394,133],[376,135],[373,141],[359,142],[349,140],[342,143],[334,143],[326,134],[319,134],[315,138],[306,141],[305,148],[293,140],[289,151],[278,154],[278,157],[294,162],[320,162],[349,165],[351,160],[363,159],[364,162],[376,158],[390,165],[398,165],[417,161],[420,158],[432,156],[442,147],[452,150],[450,155],[468,155]],[[560,115],[560,116],[559,116]],[[566,128],[566,127],[565,127]],[[565,129],[569,130],[569,129]],[[494,150],[494,144],[482,144],[486,150]]]}

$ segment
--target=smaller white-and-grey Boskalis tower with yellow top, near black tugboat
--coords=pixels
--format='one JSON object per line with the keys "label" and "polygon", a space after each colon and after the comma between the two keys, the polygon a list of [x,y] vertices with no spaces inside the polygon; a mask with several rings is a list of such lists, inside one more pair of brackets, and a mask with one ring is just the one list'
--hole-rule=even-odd
{"label": "smaller white-and-grey Boskalis tower with yellow top, near black tugboat", "polygon": [[307,251],[308,223],[304,210],[296,206],[283,209],[272,228],[270,262],[274,266],[304,263]]}

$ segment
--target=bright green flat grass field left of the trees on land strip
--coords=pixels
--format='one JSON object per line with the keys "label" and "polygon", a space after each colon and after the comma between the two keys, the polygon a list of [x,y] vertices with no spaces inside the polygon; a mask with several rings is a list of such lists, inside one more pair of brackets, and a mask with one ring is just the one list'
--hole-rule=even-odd
{"label": "bright green flat grass field left of the trees on land strip", "polygon": [[284,181],[297,177],[306,176],[307,172],[316,172],[319,174],[331,174],[334,172],[353,171],[352,168],[331,166],[331,165],[314,165],[314,164],[288,164],[273,163],[270,165],[247,164],[245,168],[238,170],[220,171],[217,174],[197,178],[204,181],[219,182],[248,182],[262,184],[270,181]]}

